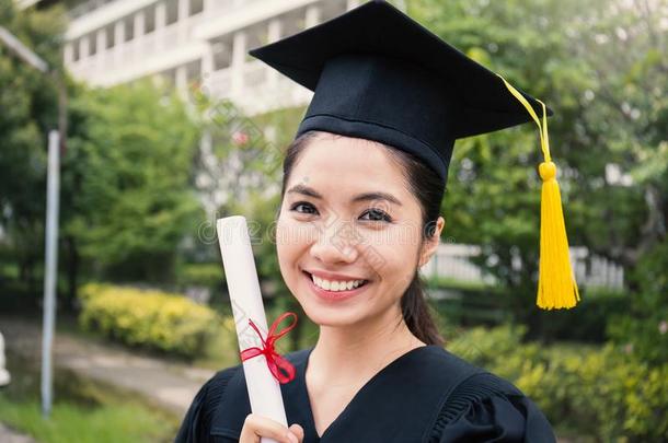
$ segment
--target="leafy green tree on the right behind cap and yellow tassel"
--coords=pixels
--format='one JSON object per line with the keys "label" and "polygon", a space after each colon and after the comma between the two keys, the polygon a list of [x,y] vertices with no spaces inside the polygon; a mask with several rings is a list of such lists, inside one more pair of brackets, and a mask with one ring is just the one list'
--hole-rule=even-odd
{"label": "leafy green tree on the right behind cap and yellow tassel", "polygon": [[[664,1],[413,0],[408,12],[555,110],[551,144],[572,245],[633,269],[666,241]],[[482,244],[481,264],[509,289],[512,312],[534,331],[543,318],[534,306],[537,139],[527,125],[459,141],[442,208],[446,235]],[[633,183],[608,180],[609,164]]]}

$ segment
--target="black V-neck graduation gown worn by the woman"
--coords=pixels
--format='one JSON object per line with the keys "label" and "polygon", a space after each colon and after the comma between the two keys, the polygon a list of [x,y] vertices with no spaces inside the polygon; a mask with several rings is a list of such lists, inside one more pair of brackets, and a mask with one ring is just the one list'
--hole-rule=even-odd
{"label": "black V-neck graduation gown worn by the woman", "polygon": [[[303,443],[555,442],[548,419],[517,387],[433,345],[378,372],[319,436],[304,381],[311,351],[286,355],[296,376],[280,386],[288,424],[303,428]],[[238,442],[249,413],[243,368],[229,368],[201,387],[176,442]]]}

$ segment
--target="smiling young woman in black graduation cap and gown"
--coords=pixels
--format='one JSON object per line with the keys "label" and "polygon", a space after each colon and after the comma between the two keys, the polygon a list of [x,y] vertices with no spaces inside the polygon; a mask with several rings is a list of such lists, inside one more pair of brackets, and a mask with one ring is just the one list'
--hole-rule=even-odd
{"label": "smiling young woman in black graduation cap and gown", "polygon": [[527,121],[526,109],[381,1],[251,54],[315,91],[284,161],[276,236],[320,335],[286,355],[289,428],[251,413],[238,365],[206,383],[176,440],[554,442],[521,392],[444,349],[417,273],[445,226],[454,139]]}

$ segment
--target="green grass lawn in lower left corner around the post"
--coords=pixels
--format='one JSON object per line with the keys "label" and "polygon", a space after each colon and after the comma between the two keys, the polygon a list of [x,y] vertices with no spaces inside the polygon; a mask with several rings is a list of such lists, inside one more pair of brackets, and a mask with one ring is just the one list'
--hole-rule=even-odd
{"label": "green grass lawn in lower left corner around the post", "polygon": [[8,354],[12,383],[0,389],[0,421],[41,443],[173,441],[178,418],[136,395],[78,377],[55,374],[55,404],[42,417],[34,362]]}

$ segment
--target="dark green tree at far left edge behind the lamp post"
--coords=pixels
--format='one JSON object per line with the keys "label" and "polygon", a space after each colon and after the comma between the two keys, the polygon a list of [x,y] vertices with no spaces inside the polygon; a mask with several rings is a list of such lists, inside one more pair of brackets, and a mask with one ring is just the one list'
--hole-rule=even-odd
{"label": "dark green tree at far left edge behind the lamp post", "polygon": [[[61,69],[60,8],[19,13],[12,0],[0,0],[0,25],[55,70]],[[51,80],[0,44],[0,225],[20,278],[33,292],[44,257],[47,133],[56,127]]]}

